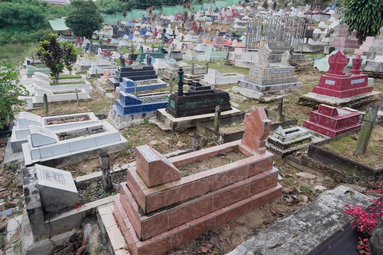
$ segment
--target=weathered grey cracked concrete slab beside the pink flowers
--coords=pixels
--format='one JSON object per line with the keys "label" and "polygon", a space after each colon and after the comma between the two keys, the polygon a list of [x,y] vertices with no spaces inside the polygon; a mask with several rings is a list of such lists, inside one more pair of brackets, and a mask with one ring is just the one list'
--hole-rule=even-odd
{"label": "weathered grey cracked concrete slab beside the pink flowers", "polygon": [[341,214],[346,204],[368,206],[371,198],[345,186],[328,190],[227,254],[305,255],[352,219]]}

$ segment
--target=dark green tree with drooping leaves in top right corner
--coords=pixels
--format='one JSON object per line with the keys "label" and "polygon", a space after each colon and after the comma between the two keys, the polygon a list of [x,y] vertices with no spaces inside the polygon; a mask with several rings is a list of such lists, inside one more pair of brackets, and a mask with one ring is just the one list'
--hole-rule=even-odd
{"label": "dark green tree with drooping leaves in top right corner", "polygon": [[344,0],[341,11],[341,24],[347,23],[349,32],[356,29],[359,41],[376,36],[383,26],[382,0]]}

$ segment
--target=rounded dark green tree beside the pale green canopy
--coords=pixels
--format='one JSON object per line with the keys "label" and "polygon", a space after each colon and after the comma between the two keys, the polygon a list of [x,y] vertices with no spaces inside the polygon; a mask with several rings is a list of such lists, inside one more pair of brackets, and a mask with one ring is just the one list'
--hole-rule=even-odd
{"label": "rounded dark green tree beside the pale green canopy", "polygon": [[73,30],[76,36],[91,37],[93,32],[101,30],[104,19],[92,0],[73,0],[72,9],[65,19],[65,25]]}

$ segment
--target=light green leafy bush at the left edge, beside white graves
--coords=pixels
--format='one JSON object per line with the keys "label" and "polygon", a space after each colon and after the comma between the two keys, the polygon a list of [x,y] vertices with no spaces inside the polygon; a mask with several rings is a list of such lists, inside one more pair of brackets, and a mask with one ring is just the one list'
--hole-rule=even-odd
{"label": "light green leafy bush at the left edge, beside white graves", "polygon": [[21,97],[30,96],[26,88],[19,83],[19,71],[6,62],[0,62],[0,129],[4,128],[9,119],[21,111],[26,104]]}

